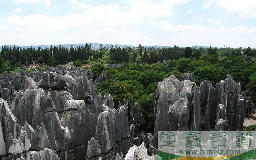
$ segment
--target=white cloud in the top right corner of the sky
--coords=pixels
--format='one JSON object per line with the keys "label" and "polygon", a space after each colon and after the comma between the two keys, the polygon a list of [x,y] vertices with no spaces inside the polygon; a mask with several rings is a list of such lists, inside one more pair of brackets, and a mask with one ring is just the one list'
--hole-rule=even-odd
{"label": "white cloud in the top right corner of the sky", "polygon": [[207,0],[205,8],[208,8],[211,3],[226,9],[228,13],[238,13],[240,18],[256,17],[256,0]]}

